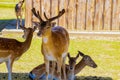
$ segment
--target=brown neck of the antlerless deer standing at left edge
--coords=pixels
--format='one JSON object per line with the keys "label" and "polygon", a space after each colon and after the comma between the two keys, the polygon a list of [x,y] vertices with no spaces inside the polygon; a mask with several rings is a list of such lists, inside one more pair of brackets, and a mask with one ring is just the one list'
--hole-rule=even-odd
{"label": "brown neck of the antlerless deer standing at left edge", "polygon": [[29,47],[31,45],[32,37],[33,37],[33,32],[30,31],[30,33],[28,34],[26,40],[23,42],[24,52],[29,49]]}

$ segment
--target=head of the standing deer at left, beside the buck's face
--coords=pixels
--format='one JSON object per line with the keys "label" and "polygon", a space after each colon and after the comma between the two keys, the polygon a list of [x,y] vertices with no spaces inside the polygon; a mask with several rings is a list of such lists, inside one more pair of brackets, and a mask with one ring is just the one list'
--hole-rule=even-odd
{"label": "head of the standing deer at left, beside the buck's face", "polygon": [[35,26],[34,26],[34,28],[26,28],[26,27],[20,25],[20,27],[22,30],[24,30],[24,34],[22,36],[24,39],[26,39],[30,33],[33,34],[33,32],[36,30]]}

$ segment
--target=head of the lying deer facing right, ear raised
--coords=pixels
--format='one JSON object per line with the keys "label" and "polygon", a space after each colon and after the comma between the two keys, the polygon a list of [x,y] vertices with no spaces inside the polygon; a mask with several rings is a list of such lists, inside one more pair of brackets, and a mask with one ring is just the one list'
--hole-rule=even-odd
{"label": "head of the lying deer facing right, ear raised", "polygon": [[82,52],[78,51],[79,55],[83,57],[82,60],[84,60],[85,64],[87,66],[90,66],[90,67],[93,67],[93,68],[96,68],[97,67],[97,64],[92,60],[92,58],[88,55],[84,55]]}

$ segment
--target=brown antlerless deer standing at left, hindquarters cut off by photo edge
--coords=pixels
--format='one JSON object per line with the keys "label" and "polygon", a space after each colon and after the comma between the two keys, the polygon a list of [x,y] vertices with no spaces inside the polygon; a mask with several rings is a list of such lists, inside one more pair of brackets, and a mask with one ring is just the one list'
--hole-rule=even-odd
{"label": "brown antlerless deer standing at left, hindquarters cut off by photo edge", "polygon": [[25,53],[32,41],[34,28],[20,27],[24,30],[23,38],[25,41],[20,42],[12,38],[2,38],[0,37],[0,64],[5,62],[8,70],[8,80],[12,80],[12,66],[14,61],[18,60],[23,53]]}

